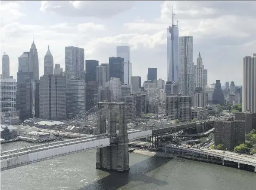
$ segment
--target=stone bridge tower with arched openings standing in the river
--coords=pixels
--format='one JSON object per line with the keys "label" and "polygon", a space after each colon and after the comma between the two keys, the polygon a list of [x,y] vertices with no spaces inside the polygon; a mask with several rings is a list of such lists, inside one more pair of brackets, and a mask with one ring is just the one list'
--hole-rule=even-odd
{"label": "stone bridge tower with arched openings standing in the river", "polygon": [[[125,172],[130,169],[128,153],[129,139],[127,133],[127,120],[125,119],[125,107],[126,103],[98,103],[98,109],[104,109],[98,112],[97,135],[106,133],[107,118],[109,123],[108,136],[110,138],[116,138],[117,144],[104,148],[97,148],[97,169],[112,169],[120,172]],[[117,112],[119,113],[118,136],[116,133]]]}

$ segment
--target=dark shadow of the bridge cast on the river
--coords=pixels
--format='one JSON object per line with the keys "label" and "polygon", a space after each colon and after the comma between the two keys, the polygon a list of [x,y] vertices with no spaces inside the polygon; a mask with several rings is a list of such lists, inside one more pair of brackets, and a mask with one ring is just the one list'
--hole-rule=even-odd
{"label": "dark shadow of the bridge cast on the river", "polygon": [[[147,176],[147,173],[163,166],[168,163],[169,159],[160,157],[149,157],[139,163],[130,166],[129,172],[116,172],[113,170],[104,170],[109,173],[108,176],[95,181],[92,184],[86,185],[78,190],[116,190],[119,189],[130,181],[140,181],[146,184],[156,184],[159,186],[167,185],[166,181]],[[97,170],[99,174],[101,170]]]}

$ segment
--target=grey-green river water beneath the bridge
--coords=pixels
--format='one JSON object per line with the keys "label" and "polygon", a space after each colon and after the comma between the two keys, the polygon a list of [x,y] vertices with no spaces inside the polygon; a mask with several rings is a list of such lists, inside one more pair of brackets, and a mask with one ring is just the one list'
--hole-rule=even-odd
{"label": "grey-green river water beneath the bridge", "polygon": [[[1,149],[19,143],[2,144]],[[106,172],[95,169],[96,150],[71,154],[1,172],[1,190],[256,189],[256,174],[236,168],[136,153],[129,160],[129,172]]]}

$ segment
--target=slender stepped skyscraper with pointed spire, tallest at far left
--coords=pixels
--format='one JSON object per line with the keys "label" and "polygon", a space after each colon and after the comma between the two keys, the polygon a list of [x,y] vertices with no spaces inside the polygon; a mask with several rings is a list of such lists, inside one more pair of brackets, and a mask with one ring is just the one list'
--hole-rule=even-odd
{"label": "slender stepped skyscraper with pointed spire, tallest at far left", "polygon": [[34,44],[34,40],[28,54],[28,72],[33,72],[33,79],[35,80],[39,79],[38,55],[37,55],[37,48]]}

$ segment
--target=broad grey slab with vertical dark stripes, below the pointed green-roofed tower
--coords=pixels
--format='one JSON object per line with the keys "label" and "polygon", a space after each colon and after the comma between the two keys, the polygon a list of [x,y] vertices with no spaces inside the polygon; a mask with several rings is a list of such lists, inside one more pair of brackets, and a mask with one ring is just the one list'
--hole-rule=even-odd
{"label": "broad grey slab with vertical dark stripes, below the pointed green-roofed tower", "polygon": [[66,78],[60,75],[40,77],[39,118],[66,120]]}

